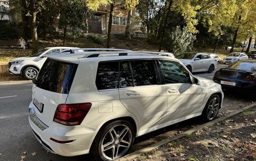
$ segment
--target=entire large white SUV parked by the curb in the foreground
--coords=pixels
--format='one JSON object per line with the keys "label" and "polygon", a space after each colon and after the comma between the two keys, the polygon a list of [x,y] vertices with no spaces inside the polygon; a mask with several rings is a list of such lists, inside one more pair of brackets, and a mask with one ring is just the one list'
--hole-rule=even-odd
{"label": "entire large white SUV parked by the curb in the foreground", "polygon": [[135,137],[189,118],[213,120],[221,85],[147,52],[51,54],[33,80],[29,123],[45,149],[115,160]]}

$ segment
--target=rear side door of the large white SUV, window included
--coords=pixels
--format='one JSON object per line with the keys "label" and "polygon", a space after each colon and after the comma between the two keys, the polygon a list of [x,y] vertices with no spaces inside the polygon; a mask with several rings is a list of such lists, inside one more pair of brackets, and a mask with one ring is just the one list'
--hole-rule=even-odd
{"label": "rear side door of the large white SUV, window included", "polygon": [[122,61],[120,63],[120,100],[139,121],[140,134],[164,121],[167,96],[157,81],[153,60]]}

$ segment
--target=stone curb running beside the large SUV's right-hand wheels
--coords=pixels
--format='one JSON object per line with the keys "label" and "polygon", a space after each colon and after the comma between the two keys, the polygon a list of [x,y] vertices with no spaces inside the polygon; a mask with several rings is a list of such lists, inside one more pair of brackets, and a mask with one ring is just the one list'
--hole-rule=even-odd
{"label": "stone curb running beside the large SUV's right-hand wheels", "polygon": [[157,143],[155,143],[155,144],[149,145],[149,146],[147,146],[147,147],[145,147],[145,148],[143,148],[143,149],[140,149],[140,150],[134,151],[134,152],[132,152],[132,153],[130,153],[130,154],[127,154],[127,155],[125,155],[124,157],[122,157],[122,158],[120,158],[120,159],[117,159],[117,160],[118,160],[118,161],[132,160],[132,159],[134,159],[134,158],[136,158],[136,157],[139,157],[141,154],[147,153],[147,152],[149,152],[149,151],[151,151],[151,150],[154,150],[154,149],[158,148],[159,146],[162,146],[162,145],[164,145],[164,144],[167,144],[168,142],[171,142],[171,141],[173,141],[173,140],[180,139],[181,137],[184,137],[184,136],[186,136],[186,135],[192,134],[192,133],[194,133],[194,132],[196,132],[196,131],[198,131],[198,130],[202,130],[204,127],[212,126],[212,125],[214,125],[214,124],[217,123],[217,122],[221,122],[221,121],[223,121],[223,120],[225,120],[225,119],[227,119],[227,118],[230,118],[230,117],[232,117],[232,116],[235,116],[236,114],[239,114],[240,112],[245,111],[246,109],[253,108],[253,107],[255,107],[255,106],[256,106],[256,103],[253,103],[253,104],[251,104],[251,105],[249,105],[249,106],[240,108],[240,109],[238,109],[238,110],[235,111],[235,112],[232,112],[232,113],[227,114],[226,116],[222,116],[222,117],[220,117],[220,118],[214,119],[214,120],[211,121],[211,122],[207,122],[207,123],[204,123],[203,125],[200,125],[200,126],[191,128],[190,130],[187,130],[187,131],[185,131],[185,132],[182,132],[181,134],[177,134],[177,135],[175,135],[175,136],[172,136],[172,137],[170,137],[170,138],[168,138],[168,139],[161,140],[161,141],[159,141],[159,142],[157,142]]}

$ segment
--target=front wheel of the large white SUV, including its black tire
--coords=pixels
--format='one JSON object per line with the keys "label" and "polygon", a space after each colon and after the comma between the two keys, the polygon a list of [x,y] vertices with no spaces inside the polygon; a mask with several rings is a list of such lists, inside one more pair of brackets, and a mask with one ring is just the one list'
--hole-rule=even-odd
{"label": "front wheel of the large white SUV, including its black tire", "polygon": [[[216,100],[215,102],[214,102],[214,99]],[[220,96],[218,96],[217,94],[213,94],[212,96],[210,96],[201,115],[203,120],[207,122],[212,121],[217,116],[218,111],[220,109],[220,105],[221,105]]]}

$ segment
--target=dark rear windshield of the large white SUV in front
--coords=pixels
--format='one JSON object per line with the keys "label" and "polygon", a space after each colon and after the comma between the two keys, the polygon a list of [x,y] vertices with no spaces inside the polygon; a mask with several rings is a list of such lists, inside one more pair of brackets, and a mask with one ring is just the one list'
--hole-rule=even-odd
{"label": "dark rear windshield of the large white SUV in front", "polygon": [[36,78],[38,88],[68,94],[78,65],[47,59]]}

